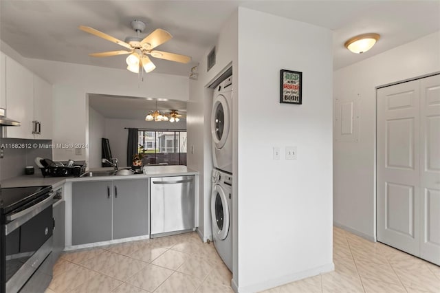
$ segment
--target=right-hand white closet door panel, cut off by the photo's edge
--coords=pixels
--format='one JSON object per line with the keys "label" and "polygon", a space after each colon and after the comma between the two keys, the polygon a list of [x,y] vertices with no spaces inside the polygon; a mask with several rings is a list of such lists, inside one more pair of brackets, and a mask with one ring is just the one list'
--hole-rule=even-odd
{"label": "right-hand white closet door panel, cut off by the photo's edge", "polygon": [[440,265],[440,75],[420,80],[420,257]]}

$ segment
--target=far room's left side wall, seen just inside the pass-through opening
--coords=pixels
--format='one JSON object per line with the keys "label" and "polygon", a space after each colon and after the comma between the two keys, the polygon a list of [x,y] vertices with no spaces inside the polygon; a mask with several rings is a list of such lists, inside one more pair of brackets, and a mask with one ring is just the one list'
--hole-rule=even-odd
{"label": "far room's left side wall, seen just inside the pass-through opening", "polygon": [[89,107],[89,168],[101,166],[101,138],[106,138],[105,118]]}

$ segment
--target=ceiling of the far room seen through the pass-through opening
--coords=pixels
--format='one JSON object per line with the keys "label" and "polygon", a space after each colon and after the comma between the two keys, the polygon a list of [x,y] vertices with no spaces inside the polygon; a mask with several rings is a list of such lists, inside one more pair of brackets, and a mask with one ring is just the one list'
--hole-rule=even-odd
{"label": "ceiling of the far room seen through the pass-through opening", "polygon": [[[170,113],[171,110],[177,110],[179,114],[186,115],[186,101],[182,100],[155,100],[89,94],[89,106],[105,118],[113,119],[144,120],[148,111],[155,109],[165,114]],[[186,118],[181,117],[181,119]]]}

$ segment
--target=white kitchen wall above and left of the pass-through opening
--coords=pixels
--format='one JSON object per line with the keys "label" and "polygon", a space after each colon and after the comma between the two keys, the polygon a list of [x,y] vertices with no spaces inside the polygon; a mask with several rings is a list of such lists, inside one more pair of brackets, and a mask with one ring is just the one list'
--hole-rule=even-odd
{"label": "white kitchen wall above and left of the pass-through opening", "polygon": [[[144,81],[124,69],[24,58],[25,66],[54,89],[54,144],[88,143],[87,94],[188,100],[188,77],[145,74]],[[54,160],[87,160],[86,151],[54,149]]]}

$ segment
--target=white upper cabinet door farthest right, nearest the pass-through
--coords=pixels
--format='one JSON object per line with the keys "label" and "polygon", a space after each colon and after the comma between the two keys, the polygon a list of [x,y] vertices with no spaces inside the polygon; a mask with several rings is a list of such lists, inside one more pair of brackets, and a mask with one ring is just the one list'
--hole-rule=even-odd
{"label": "white upper cabinet door farthest right, nearest the pass-through", "polygon": [[34,74],[34,120],[40,122],[34,138],[52,140],[52,85]]}

